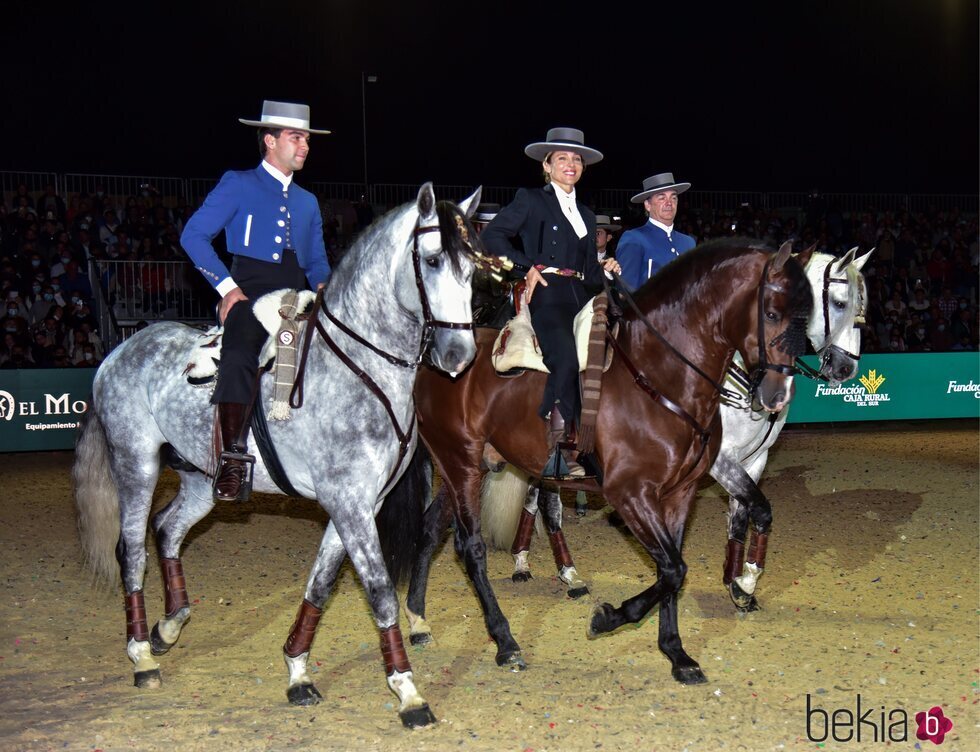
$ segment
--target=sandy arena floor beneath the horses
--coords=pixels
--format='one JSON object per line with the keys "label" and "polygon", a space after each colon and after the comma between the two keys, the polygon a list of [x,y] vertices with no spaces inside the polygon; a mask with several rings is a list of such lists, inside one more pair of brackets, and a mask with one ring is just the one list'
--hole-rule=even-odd
{"label": "sandy arena floor beneath the horses", "polygon": [[[219,507],[183,561],[193,618],[161,659],[163,688],[132,686],[121,593],[89,586],[74,529],[72,454],[4,455],[0,602],[0,747],[4,750],[794,750],[884,749],[905,713],[953,722],[938,749],[980,748],[978,713],[978,431],[976,422],[863,425],[786,432],[764,490],[775,523],[758,596],[735,613],[721,585],[725,507],[705,486],[688,528],[681,635],[708,683],[684,687],[656,647],[657,617],[586,640],[593,603],[649,586],[654,569],[605,521],[600,502],[569,546],[592,596],[565,597],[545,541],[536,578],[510,581],[511,557],[489,568],[529,668],[496,667],[476,597],[446,545],[436,557],[428,618],[436,643],[410,648],[439,722],[402,728],[384,682],[377,632],[349,567],[313,644],[324,703],[286,703],[281,645],[303,596],[325,516],[312,502],[258,496]],[[158,489],[164,503],[176,476]],[[156,552],[150,545],[153,561]],[[152,624],[162,610],[154,565]],[[407,626],[403,625],[407,634]],[[869,724],[807,738],[807,702]],[[882,711],[884,708],[884,711]],[[894,711],[894,712],[893,712]],[[846,716],[838,716],[846,720]],[[826,733],[820,714],[811,736]]]}

